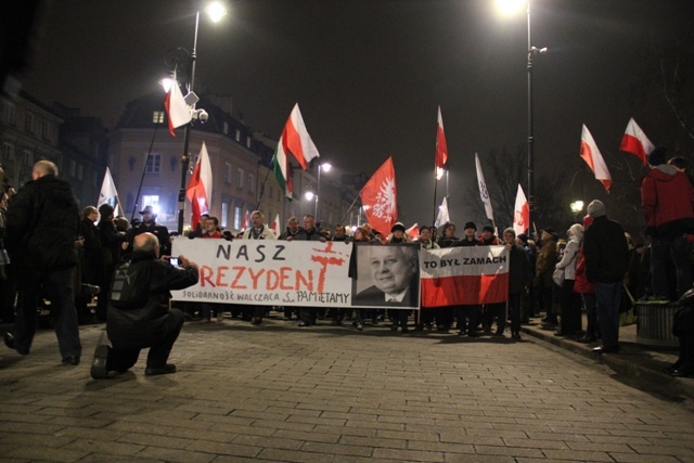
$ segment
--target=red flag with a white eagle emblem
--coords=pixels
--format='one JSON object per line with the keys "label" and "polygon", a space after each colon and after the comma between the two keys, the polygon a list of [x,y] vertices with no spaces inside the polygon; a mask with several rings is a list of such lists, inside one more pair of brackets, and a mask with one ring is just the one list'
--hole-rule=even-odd
{"label": "red flag with a white eagle emblem", "polygon": [[390,232],[398,218],[397,189],[393,157],[383,163],[359,192],[367,221],[382,236]]}

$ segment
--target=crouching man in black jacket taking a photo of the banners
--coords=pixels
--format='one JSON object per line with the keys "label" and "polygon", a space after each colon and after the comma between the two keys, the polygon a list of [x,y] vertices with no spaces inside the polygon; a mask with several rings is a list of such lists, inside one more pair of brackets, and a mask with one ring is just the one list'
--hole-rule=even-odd
{"label": "crouching man in black jacket taking a photo of the banners", "polygon": [[112,371],[129,370],[145,347],[150,352],[144,374],[176,373],[176,365],[166,361],[183,326],[183,312],[169,310],[169,291],[197,283],[198,270],[196,263],[183,256],[179,257],[182,268],[158,256],[156,236],[141,233],[134,237],[129,265],[124,263],[116,270],[106,321],[113,347],[97,347],[91,366],[94,380],[107,378]]}

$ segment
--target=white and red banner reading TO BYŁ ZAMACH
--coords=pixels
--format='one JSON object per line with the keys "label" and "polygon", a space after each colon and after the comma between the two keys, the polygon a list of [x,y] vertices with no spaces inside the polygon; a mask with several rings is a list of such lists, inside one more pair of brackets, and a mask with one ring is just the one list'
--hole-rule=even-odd
{"label": "white and red banner reading TO BY\u0141 ZAMACH", "polygon": [[509,299],[505,246],[420,250],[422,307],[504,303]]}

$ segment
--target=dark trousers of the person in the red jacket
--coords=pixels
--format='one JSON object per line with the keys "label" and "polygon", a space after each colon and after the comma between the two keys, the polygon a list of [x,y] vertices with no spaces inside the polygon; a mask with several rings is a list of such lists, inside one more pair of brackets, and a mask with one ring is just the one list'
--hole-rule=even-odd
{"label": "dark trousers of the person in the red jacket", "polygon": [[684,236],[654,237],[651,244],[651,274],[653,295],[656,297],[671,296],[667,275],[669,259],[672,259],[677,272],[677,297],[692,287],[692,266],[687,259]]}

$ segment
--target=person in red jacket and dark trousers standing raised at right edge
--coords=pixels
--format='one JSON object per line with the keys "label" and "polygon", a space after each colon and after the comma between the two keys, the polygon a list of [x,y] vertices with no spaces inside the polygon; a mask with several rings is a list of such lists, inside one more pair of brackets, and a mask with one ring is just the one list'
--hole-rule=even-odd
{"label": "person in red jacket and dark trousers standing raised at right edge", "polygon": [[651,170],[641,181],[641,201],[646,234],[652,239],[651,274],[653,301],[672,300],[666,267],[672,259],[677,271],[677,297],[692,287],[686,233],[694,231],[694,187],[684,172],[666,164],[666,149],[648,155]]}

